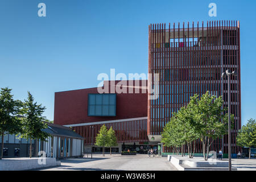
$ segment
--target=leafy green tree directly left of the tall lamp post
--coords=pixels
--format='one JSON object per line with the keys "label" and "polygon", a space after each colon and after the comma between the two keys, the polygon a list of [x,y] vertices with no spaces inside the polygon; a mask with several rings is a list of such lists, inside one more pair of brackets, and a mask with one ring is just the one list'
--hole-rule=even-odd
{"label": "leafy green tree directly left of the tall lamp post", "polygon": [[[193,111],[191,125],[203,143],[203,155],[208,160],[209,148],[214,139],[228,133],[228,113],[224,114],[222,96],[210,96],[209,91],[200,98],[197,94],[191,97],[188,107]],[[231,122],[234,115],[231,115]],[[205,148],[207,149],[205,155]]]}

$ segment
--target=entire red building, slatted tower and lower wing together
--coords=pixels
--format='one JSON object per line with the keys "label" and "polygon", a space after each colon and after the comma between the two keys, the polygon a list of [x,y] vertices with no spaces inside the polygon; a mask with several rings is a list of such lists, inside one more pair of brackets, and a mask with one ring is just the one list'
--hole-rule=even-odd
{"label": "entire red building, slatted tower and lower wing together", "polygon": [[[86,151],[100,148],[93,146],[101,125],[113,127],[119,146],[118,151],[127,148],[139,152],[147,147],[170,148],[160,144],[163,127],[180,107],[188,104],[195,93],[224,97],[228,105],[228,81],[221,78],[226,69],[236,70],[237,77],[231,76],[231,108],[234,114],[232,129],[232,153],[238,152],[237,131],[241,129],[241,69],[240,69],[240,23],[235,21],[212,21],[196,24],[150,24],[148,30],[148,88],[155,88],[155,74],[159,75],[157,99],[150,99],[147,86],[135,85],[122,88],[133,93],[119,93],[119,81],[105,81],[104,87],[114,86],[108,94],[99,94],[98,88],[71,90],[55,93],[56,124],[72,126],[85,139]],[[129,85],[128,82],[126,85]],[[137,92],[135,92],[137,90]],[[110,93],[110,94],[109,94]],[[150,146],[151,145],[151,146]],[[196,152],[202,152],[200,140]],[[115,150],[117,150],[117,148]],[[210,150],[222,148],[228,152],[228,137],[214,140]],[[184,146],[184,150],[187,148]]]}

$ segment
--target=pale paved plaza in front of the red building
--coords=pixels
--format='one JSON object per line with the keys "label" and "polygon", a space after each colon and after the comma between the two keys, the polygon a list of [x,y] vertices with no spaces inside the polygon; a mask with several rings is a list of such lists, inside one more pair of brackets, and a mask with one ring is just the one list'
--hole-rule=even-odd
{"label": "pale paved plaza in front of the red building", "polygon": [[[224,159],[228,160],[228,159]],[[232,166],[238,171],[256,170],[256,159],[232,159]],[[167,160],[167,157],[149,158],[148,155],[121,156],[106,154],[90,155],[85,158],[61,160],[61,166],[40,169],[42,171],[68,171],[68,170],[124,170],[124,171],[177,171]]]}

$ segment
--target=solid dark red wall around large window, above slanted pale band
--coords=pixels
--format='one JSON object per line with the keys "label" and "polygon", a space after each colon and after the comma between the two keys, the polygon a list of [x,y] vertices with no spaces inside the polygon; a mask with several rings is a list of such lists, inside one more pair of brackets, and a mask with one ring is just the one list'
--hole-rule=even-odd
{"label": "solid dark red wall around large window, above slanted pale band", "polygon": [[[115,81],[113,84],[116,84],[117,82],[118,81]],[[109,84],[110,93],[110,82],[105,81],[104,84]],[[142,93],[142,90],[144,93]],[[56,92],[54,123],[57,125],[71,125],[78,123],[147,117],[146,89],[140,88],[139,93],[135,93],[135,89],[133,91],[133,93],[117,94],[115,117],[88,116],[88,94],[98,93],[97,88]]]}

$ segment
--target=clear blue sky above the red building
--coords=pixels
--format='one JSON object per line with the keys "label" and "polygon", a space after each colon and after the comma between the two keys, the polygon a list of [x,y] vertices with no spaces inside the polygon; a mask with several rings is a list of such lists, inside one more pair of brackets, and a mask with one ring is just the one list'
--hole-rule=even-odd
{"label": "clear blue sky above the red building", "polygon": [[[38,4],[46,4],[46,17]],[[208,15],[216,3],[217,17]],[[148,24],[240,20],[242,123],[256,119],[256,1],[0,0],[0,87],[30,91],[53,119],[54,93],[98,85],[99,73],[147,73]]]}

